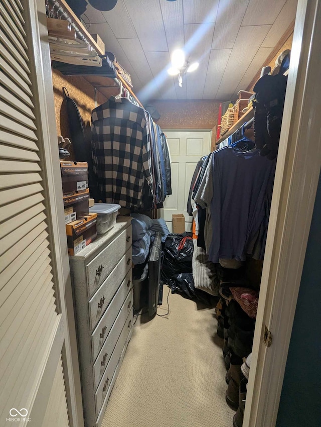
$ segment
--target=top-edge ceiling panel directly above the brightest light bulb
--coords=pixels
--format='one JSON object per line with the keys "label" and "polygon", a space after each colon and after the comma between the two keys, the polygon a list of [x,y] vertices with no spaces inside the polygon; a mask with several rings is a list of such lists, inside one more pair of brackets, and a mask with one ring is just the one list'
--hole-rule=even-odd
{"label": "top-edge ceiling panel directly above the brightest light bulb", "polygon": [[170,54],[184,47],[183,0],[161,2],[165,33]]}

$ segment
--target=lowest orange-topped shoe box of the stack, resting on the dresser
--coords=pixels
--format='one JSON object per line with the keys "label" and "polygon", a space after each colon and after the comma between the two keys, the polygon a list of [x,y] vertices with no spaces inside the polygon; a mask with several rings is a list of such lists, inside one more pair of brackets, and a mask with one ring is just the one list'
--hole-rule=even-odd
{"label": "lowest orange-topped shoe box of the stack, resting on the dresser", "polygon": [[76,255],[97,237],[97,213],[66,225],[68,254]]}

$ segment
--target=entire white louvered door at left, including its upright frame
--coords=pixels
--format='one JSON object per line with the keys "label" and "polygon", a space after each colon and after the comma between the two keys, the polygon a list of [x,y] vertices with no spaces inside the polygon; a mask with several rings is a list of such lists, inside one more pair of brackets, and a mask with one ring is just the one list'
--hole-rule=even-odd
{"label": "entire white louvered door at left, including its upright frame", "polygon": [[38,21],[45,2],[39,8],[36,0],[0,6],[0,424],[20,414],[31,425],[81,427],[55,110],[46,96],[51,69],[41,43],[50,53]]}

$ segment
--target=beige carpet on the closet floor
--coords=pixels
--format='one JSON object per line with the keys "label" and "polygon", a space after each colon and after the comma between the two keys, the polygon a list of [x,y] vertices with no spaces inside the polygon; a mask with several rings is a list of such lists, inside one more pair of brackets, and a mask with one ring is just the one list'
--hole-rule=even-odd
{"label": "beige carpet on the closet floor", "polygon": [[[167,312],[168,287],[163,306]],[[139,316],[102,427],[231,427],[214,309],[170,294],[170,314]]]}

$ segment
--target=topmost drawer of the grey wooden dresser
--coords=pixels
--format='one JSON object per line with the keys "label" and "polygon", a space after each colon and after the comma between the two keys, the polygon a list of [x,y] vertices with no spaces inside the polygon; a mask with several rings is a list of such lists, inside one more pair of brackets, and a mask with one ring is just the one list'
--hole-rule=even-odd
{"label": "topmost drawer of the grey wooden dresser", "polygon": [[[120,258],[131,248],[131,240],[131,227],[128,227],[88,263],[86,266],[88,296],[104,282]],[[127,262],[131,265],[131,255]]]}

